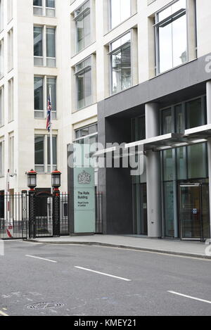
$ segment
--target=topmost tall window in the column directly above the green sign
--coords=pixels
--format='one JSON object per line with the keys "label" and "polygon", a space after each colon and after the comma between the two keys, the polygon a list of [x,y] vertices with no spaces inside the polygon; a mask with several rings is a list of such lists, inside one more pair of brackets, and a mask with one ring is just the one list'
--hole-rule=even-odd
{"label": "topmost tall window in the column directly above the green sign", "polygon": [[91,14],[90,1],[85,2],[75,11],[76,51],[89,46],[91,43]]}

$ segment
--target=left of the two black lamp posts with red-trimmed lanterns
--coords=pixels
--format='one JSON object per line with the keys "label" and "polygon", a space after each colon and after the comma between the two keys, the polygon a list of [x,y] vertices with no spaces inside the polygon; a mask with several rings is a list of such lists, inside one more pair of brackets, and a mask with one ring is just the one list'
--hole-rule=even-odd
{"label": "left of the two black lamp posts with red-trimmed lanterns", "polygon": [[37,172],[30,170],[27,172],[27,186],[29,191],[29,236],[30,239],[36,238],[36,222],[34,215],[35,188],[37,186]]}

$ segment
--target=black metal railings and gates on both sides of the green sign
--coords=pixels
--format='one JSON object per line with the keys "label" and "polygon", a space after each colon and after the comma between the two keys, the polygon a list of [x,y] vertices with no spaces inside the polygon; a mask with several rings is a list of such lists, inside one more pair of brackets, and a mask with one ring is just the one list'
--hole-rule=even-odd
{"label": "black metal railings and gates on both sides of the green sign", "polygon": [[[0,193],[0,239],[70,235],[68,202],[68,193]],[[102,194],[96,193],[96,234],[102,233]]]}

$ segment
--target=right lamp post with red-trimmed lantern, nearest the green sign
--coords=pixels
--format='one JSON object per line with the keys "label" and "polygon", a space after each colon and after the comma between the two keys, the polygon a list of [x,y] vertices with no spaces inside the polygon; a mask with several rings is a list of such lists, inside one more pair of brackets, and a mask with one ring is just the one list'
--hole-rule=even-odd
{"label": "right lamp post with red-trimmed lantern, nearest the green sign", "polygon": [[60,176],[61,172],[51,172],[51,186],[53,188],[53,236],[60,236]]}

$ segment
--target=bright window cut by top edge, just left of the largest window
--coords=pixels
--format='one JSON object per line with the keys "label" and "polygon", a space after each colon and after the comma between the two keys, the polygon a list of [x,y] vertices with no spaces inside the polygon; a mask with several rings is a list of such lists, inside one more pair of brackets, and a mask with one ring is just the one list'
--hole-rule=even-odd
{"label": "bright window cut by top edge, just left of the largest window", "polygon": [[131,12],[131,0],[110,0],[110,28],[127,20]]}

